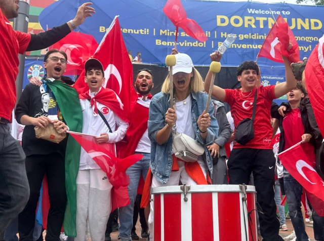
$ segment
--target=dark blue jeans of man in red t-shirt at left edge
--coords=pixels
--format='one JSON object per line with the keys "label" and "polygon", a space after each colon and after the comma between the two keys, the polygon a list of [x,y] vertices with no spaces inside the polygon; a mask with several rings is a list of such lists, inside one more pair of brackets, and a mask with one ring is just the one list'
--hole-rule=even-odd
{"label": "dark blue jeans of man in red t-shirt at left edge", "polygon": [[24,209],[29,197],[25,153],[10,127],[0,123],[0,239]]}

